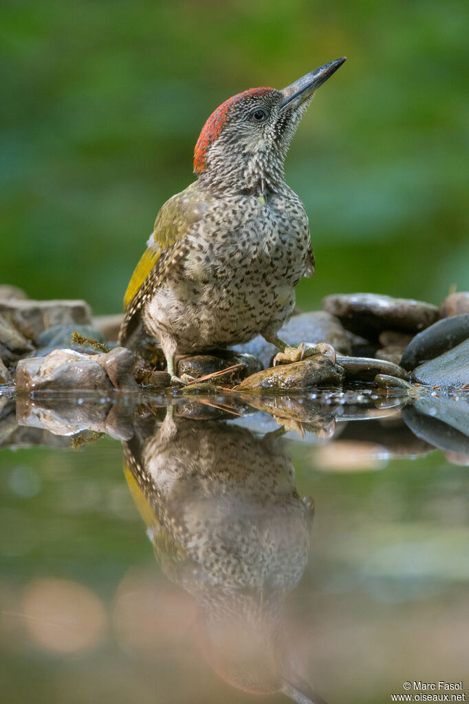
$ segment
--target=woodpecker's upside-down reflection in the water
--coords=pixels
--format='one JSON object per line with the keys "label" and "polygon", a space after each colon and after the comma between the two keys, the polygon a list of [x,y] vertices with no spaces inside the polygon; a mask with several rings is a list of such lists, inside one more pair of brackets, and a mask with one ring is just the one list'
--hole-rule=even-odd
{"label": "woodpecker's upside-down reflection in the water", "polygon": [[215,672],[244,691],[319,704],[285,622],[314,509],[281,434],[169,411],[124,444],[124,472],[163,572],[198,603],[198,644]]}

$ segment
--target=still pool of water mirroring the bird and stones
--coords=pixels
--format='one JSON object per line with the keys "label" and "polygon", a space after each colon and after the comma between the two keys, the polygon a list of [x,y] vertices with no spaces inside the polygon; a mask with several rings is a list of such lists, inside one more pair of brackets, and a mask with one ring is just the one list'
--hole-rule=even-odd
{"label": "still pool of water mirroring the bird and stones", "polygon": [[0,396],[2,700],[469,696],[467,396]]}

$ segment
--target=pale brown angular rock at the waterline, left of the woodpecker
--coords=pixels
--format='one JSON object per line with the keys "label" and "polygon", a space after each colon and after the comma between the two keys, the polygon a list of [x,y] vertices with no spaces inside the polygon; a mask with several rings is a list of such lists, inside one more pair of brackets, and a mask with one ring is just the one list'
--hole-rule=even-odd
{"label": "pale brown angular rock at the waterline, left of the woodpecker", "polygon": [[18,393],[46,389],[92,390],[103,394],[114,389],[137,391],[133,365],[133,353],[123,347],[98,355],[56,350],[46,357],[20,360],[16,384]]}

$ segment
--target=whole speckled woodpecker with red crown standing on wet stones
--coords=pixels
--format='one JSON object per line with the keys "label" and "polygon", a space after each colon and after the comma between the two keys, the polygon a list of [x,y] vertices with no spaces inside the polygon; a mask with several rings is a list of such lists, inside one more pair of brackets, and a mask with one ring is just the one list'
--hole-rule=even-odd
{"label": "whole speckled woodpecker with red crown standing on wet stones", "polygon": [[247,342],[257,334],[274,363],[332,348],[288,347],[277,332],[295,287],[314,274],[302,201],[285,183],[288,147],[314,92],[345,57],[283,90],[251,88],[210,115],[194,151],[197,180],[161,208],[124,296],[120,344],[143,322],[175,382],[176,354]]}

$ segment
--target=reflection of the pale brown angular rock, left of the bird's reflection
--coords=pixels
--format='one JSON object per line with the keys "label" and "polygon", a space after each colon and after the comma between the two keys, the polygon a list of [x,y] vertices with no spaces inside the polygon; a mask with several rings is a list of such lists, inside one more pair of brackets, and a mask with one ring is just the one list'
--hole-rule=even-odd
{"label": "reflection of the pale brown angular rock, left of the bird's reflection", "polygon": [[41,428],[54,435],[75,435],[82,430],[106,433],[117,440],[128,440],[134,433],[132,409],[125,404],[96,397],[42,398],[18,396],[18,423],[28,428]]}

